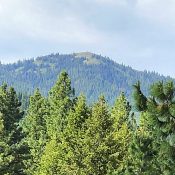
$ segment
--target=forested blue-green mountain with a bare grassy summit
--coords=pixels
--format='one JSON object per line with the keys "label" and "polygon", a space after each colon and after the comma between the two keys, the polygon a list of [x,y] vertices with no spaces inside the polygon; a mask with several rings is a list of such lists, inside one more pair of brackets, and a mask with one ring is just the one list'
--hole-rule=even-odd
{"label": "forested blue-green mountain with a bare grassy summit", "polygon": [[89,102],[104,94],[109,103],[113,103],[121,91],[130,97],[132,85],[138,80],[142,83],[143,91],[148,93],[146,89],[151,83],[171,79],[155,72],[134,70],[101,55],[81,52],[51,54],[13,64],[0,64],[0,83],[6,82],[18,92],[28,94],[38,87],[47,95],[62,70],[69,73],[76,94],[85,94]]}

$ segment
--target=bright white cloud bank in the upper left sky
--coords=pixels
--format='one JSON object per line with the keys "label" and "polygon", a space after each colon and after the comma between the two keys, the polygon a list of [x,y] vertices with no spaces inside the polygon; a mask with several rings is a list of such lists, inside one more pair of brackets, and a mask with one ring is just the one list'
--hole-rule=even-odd
{"label": "bright white cloud bank in the upper left sky", "polygon": [[61,10],[55,15],[52,9],[44,5],[42,1],[37,4],[35,0],[1,0],[0,37],[16,35],[53,42],[87,44],[101,41],[100,33],[74,13]]}

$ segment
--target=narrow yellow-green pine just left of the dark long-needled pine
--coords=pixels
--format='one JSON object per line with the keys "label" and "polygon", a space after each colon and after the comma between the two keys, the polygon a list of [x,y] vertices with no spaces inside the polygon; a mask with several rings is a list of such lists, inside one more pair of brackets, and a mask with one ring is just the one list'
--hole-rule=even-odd
{"label": "narrow yellow-green pine just left of the dark long-needled pine", "polygon": [[116,100],[111,111],[113,120],[113,137],[115,145],[113,147],[114,153],[113,167],[115,169],[113,174],[124,174],[126,166],[126,159],[128,157],[128,150],[132,139],[132,132],[134,130],[130,122],[131,106],[127,101],[124,93],[122,93]]}

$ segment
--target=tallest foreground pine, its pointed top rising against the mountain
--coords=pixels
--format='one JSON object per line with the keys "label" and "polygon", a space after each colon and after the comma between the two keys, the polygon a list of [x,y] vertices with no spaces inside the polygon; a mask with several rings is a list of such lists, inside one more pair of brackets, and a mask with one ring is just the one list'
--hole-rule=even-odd
{"label": "tallest foreground pine, its pointed top rising against the mountain", "polygon": [[68,124],[70,110],[75,99],[74,90],[68,74],[63,71],[51,89],[48,97],[49,116],[46,119],[48,140],[41,157],[37,174],[60,174],[61,149],[63,148],[64,130]]}

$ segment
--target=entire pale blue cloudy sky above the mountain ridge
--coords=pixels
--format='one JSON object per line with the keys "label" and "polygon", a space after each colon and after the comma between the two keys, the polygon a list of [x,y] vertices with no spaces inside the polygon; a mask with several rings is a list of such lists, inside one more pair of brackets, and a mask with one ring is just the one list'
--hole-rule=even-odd
{"label": "entire pale blue cloudy sky above the mountain ridge", "polygon": [[175,77],[175,0],[0,0],[0,60],[89,51]]}

